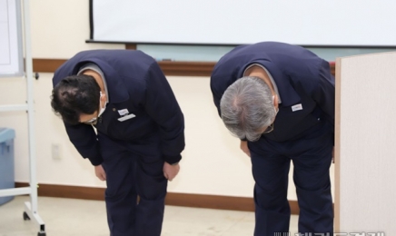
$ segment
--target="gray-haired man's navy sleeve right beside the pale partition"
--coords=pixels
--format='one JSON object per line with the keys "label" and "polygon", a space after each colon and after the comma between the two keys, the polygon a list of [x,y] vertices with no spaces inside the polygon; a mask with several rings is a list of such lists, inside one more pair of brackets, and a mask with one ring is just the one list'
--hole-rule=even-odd
{"label": "gray-haired man's navy sleeve right beside the pale partition", "polygon": [[327,120],[334,127],[335,87],[334,77],[330,72],[329,63],[322,60],[319,69],[319,82],[312,93],[312,99],[326,114]]}

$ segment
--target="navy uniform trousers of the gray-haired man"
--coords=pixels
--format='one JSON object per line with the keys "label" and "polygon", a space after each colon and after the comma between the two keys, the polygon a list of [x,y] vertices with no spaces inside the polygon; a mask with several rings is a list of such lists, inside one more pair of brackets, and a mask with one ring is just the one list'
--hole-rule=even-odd
{"label": "navy uniform trousers of the gray-haired man", "polygon": [[291,211],[287,186],[291,161],[300,207],[299,232],[303,235],[330,232],[329,235],[332,235],[329,168],[332,163],[333,135],[330,125],[325,124],[294,141],[275,143],[261,138],[248,145],[255,181],[254,235],[273,236],[277,235],[275,232],[289,232]]}

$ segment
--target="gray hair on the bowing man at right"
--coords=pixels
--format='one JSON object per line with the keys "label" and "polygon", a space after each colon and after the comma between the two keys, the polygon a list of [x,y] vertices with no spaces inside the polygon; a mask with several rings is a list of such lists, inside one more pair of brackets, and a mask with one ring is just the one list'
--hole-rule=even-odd
{"label": "gray hair on the bowing man at right", "polygon": [[276,115],[269,85],[253,76],[245,76],[225,90],[220,110],[227,129],[251,142],[260,139],[262,128],[269,126]]}

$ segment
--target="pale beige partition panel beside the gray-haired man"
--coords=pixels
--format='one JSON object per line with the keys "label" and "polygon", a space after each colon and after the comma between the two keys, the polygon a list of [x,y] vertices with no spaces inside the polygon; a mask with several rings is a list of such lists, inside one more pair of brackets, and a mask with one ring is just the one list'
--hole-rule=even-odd
{"label": "pale beige partition panel beside the gray-haired man", "polygon": [[336,235],[395,235],[396,53],[337,59],[335,125]]}

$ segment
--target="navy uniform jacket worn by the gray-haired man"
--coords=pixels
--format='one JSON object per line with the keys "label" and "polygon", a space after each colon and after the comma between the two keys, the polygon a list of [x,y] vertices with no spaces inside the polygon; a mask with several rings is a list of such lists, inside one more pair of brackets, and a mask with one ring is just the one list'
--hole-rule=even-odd
{"label": "navy uniform jacket worn by the gray-haired man", "polygon": [[[211,76],[214,104],[220,114],[224,91],[243,77],[250,64],[262,64],[272,74],[282,100],[274,129],[263,134],[263,138],[274,142],[298,139],[325,122],[332,124],[333,133],[335,89],[330,66],[312,52],[291,44],[242,45],[225,54]],[[296,110],[299,104],[302,110]]]}

